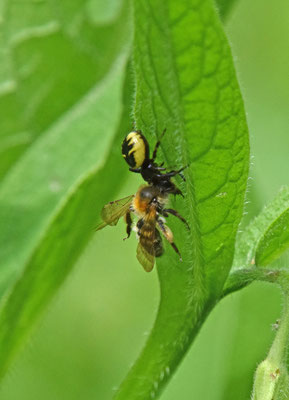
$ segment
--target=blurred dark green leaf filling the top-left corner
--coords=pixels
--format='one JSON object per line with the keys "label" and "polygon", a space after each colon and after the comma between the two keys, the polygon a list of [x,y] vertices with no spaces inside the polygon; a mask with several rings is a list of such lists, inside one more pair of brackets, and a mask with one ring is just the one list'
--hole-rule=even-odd
{"label": "blurred dark green leaf filling the top-left corner", "polygon": [[100,82],[126,40],[121,1],[0,7],[0,179]]}

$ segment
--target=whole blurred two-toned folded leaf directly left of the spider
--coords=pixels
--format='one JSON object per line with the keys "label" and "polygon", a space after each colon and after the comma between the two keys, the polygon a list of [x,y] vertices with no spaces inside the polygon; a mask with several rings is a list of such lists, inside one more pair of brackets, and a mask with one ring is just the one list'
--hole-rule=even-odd
{"label": "whole blurred two-toned folded leaf directly left of the spider", "polygon": [[128,13],[126,5],[126,40],[119,38],[107,74],[42,132],[1,184],[1,295],[10,287],[0,309],[1,377],[126,177],[120,143],[130,128]]}

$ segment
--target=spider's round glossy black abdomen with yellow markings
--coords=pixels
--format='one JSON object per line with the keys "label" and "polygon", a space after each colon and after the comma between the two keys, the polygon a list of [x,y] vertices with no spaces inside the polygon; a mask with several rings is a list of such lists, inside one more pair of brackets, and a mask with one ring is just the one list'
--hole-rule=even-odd
{"label": "spider's round glossy black abdomen with yellow markings", "polygon": [[130,132],[122,143],[122,155],[131,168],[141,168],[149,160],[149,144],[141,131]]}

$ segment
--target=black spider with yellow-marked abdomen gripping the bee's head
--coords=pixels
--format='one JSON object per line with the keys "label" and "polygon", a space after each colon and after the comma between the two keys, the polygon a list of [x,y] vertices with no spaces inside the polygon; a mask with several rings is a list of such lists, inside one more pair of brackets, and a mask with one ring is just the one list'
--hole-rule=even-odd
{"label": "black spider with yellow-marked abdomen gripping the bee's head", "polygon": [[166,129],[164,129],[160,139],[157,141],[151,158],[149,144],[142,131],[130,132],[122,143],[122,155],[130,166],[130,171],[140,173],[146,182],[158,187],[160,192],[183,196],[181,190],[171,181],[171,178],[180,175],[185,180],[182,171],[187,166],[176,171],[165,172],[166,168],[163,167],[163,163],[158,165],[155,162],[158,148],[165,132]]}

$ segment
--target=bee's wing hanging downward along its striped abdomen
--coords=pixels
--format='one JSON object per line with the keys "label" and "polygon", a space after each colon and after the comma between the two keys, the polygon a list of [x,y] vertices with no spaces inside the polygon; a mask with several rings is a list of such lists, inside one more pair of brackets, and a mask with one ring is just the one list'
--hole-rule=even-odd
{"label": "bee's wing hanging downward along its striped abdomen", "polygon": [[137,246],[136,256],[147,272],[150,272],[153,269],[155,263],[156,232],[158,231],[156,231],[155,219],[145,220],[138,232],[139,243]]}

